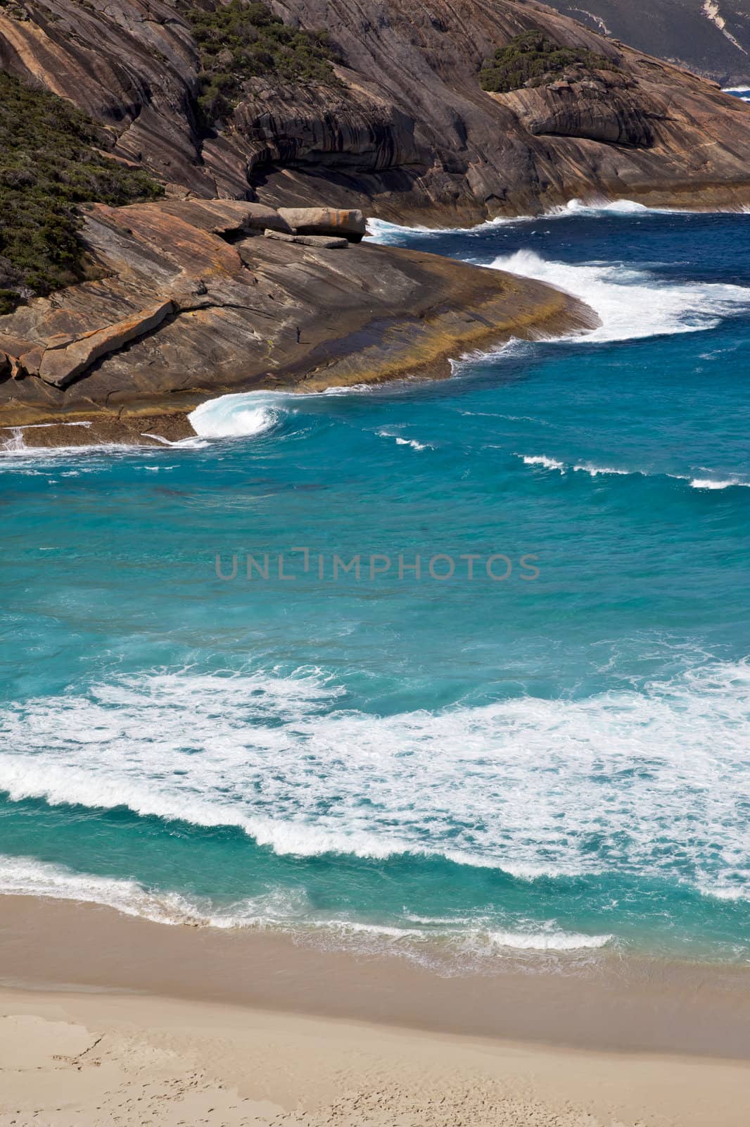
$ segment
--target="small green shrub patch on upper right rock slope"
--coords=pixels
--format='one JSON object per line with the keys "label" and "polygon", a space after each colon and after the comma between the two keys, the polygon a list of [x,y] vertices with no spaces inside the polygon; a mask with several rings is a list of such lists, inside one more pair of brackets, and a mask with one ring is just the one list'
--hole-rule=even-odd
{"label": "small green shrub patch on upper right rock slope", "polygon": [[618,66],[605,55],[584,47],[561,47],[542,32],[524,32],[505,47],[498,47],[494,59],[480,71],[480,86],[492,94],[507,94],[523,86],[541,86],[561,78],[565,71],[616,71]]}

